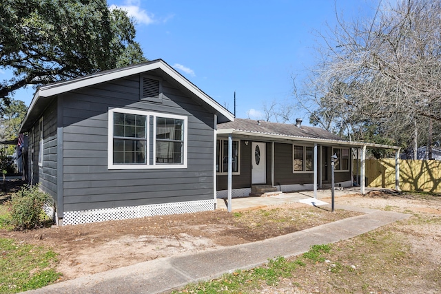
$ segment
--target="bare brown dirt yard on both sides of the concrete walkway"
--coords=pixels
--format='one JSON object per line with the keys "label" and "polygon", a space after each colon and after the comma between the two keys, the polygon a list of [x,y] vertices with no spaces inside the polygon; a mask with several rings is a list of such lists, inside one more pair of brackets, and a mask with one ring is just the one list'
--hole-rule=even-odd
{"label": "bare brown dirt yard on both sides of the concrete walkway", "polygon": [[[336,207],[341,203],[439,219],[441,201],[438,198],[370,193],[336,198]],[[330,199],[323,200],[330,202]],[[0,231],[0,236],[52,247],[59,253],[61,280],[69,280],[156,258],[264,240],[358,214],[339,209],[330,213],[306,204],[286,204],[235,213],[218,210],[28,232]],[[433,230],[418,223],[405,230],[410,235],[420,235],[411,239],[415,252],[429,255],[435,264],[441,264],[441,226]]]}

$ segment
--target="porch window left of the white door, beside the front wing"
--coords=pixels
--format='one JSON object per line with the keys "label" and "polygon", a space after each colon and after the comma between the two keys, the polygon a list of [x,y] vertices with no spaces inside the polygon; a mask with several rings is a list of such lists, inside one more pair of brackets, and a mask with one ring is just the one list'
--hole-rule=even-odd
{"label": "porch window left of the white door, beside the front wing", "polygon": [[[240,174],[240,141],[233,140],[233,157],[232,157],[232,171],[233,174]],[[227,174],[228,173],[228,139],[216,140],[216,173]]]}

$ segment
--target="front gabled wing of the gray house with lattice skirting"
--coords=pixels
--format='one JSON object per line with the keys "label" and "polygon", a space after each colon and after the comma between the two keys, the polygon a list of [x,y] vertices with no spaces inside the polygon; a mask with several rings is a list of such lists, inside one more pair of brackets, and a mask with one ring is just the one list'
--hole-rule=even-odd
{"label": "front gabled wing of the gray house with lattice skirting", "polygon": [[21,125],[28,178],[59,224],[213,210],[227,109],[162,60],[40,87]]}

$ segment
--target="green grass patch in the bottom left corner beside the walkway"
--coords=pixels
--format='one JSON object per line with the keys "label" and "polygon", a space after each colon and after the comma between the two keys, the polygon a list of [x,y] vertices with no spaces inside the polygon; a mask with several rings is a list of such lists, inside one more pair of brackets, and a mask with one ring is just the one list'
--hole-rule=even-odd
{"label": "green grass patch in the bottom left corner beside the walkway", "polygon": [[19,293],[55,282],[57,253],[43,246],[0,238],[0,293]]}

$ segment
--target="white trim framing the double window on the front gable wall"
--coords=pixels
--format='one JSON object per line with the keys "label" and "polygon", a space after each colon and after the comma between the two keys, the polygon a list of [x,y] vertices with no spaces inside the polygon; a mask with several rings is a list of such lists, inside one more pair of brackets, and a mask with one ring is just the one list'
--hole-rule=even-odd
{"label": "white trim framing the double window on the front gable wall", "polygon": [[[113,163],[113,114],[114,112],[125,113],[125,114],[138,114],[147,117],[147,129],[146,129],[146,160],[145,165],[114,165]],[[159,112],[147,112],[144,110],[136,109],[126,109],[126,108],[112,108],[107,112],[107,168],[108,169],[186,169],[187,168],[187,142],[188,142],[188,118],[187,116],[178,116],[174,114],[162,114]],[[153,117],[153,162],[150,162],[150,118]],[[177,118],[184,120],[184,151],[183,151],[183,164],[181,165],[156,165],[156,117],[163,118]]]}

